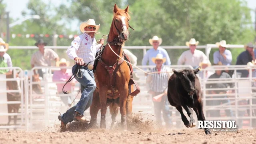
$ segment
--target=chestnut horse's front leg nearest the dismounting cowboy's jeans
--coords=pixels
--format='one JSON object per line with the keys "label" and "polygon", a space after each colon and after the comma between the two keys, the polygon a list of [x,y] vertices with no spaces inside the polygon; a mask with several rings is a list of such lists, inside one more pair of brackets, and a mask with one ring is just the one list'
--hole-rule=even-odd
{"label": "chestnut horse's front leg nearest the dismounting cowboy's jeans", "polygon": [[107,112],[107,88],[102,86],[99,90],[100,94],[100,128],[106,128],[106,112]]}

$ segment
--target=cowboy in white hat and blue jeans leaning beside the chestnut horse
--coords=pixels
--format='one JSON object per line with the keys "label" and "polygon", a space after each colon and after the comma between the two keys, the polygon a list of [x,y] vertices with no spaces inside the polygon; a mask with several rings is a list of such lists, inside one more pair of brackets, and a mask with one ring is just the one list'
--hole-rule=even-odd
{"label": "cowboy in white hat and blue jeans leaning beside the chestnut horse", "polygon": [[96,25],[93,19],[80,24],[80,31],[83,34],[77,36],[66,51],[68,57],[75,60],[76,63],[72,68],[72,73],[75,72],[78,65],[83,66],[86,64],[86,66],[81,69],[78,76],[75,76],[76,80],[84,87],[84,90],[81,90],[82,95],[79,102],[67,110],[66,113],[58,116],[62,129],[65,129],[66,124],[73,120],[89,122],[84,118],[84,111],[92,104],[92,96],[96,88],[92,69],[96,52],[104,44],[104,39],[100,39],[99,44],[96,44],[95,33],[98,32],[99,28],[100,24]]}

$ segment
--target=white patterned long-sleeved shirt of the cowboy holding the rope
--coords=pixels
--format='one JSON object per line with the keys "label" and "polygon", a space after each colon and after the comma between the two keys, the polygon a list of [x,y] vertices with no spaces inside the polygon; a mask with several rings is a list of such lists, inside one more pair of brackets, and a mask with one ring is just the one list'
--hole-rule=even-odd
{"label": "white patterned long-sleeved shirt of the cowboy holding the rope", "polygon": [[[96,52],[100,47],[101,44],[96,44],[95,38],[91,38],[91,36],[84,32],[84,34],[77,36],[71,42],[71,46],[68,48],[66,53],[72,60],[76,57],[83,58],[84,62],[87,64],[95,59]],[[94,64],[94,61],[90,64]]]}

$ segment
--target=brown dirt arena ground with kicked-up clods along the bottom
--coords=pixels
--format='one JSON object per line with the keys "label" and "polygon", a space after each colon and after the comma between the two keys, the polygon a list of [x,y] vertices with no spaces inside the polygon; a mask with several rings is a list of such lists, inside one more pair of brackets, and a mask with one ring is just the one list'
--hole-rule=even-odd
{"label": "brown dirt arena ground with kicked-up clods along the bottom", "polygon": [[212,132],[206,135],[203,129],[157,129],[152,120],[142,120],[139,116],[128,120],[128,131],[120,130],[120,123],[114,130],[88,128],[88,124],[72,122],[68,131],[60,132],[60,124],[46,130],[0,131],[0,144],[256,144],[256,129],[237,132]]}

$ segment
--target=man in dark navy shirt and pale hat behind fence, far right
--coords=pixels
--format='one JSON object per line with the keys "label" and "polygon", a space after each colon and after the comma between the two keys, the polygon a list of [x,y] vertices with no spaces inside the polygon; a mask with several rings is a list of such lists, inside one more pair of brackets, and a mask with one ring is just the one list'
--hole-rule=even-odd
{"label": "man in dark navy shirt and pale hat behind fence, far right", "polygon": [[[254,56],[254,45],[252,42],[244,45],[244,48],[246,51],[241,52],[239,56],[236,59],[236,65],[246,65],[248,62],[251,62],[252,60],[255,61]],[[247,70],[237,70],[237,72],[241,72],[241,78],[247,78],[248,77],[248,71]]]}

